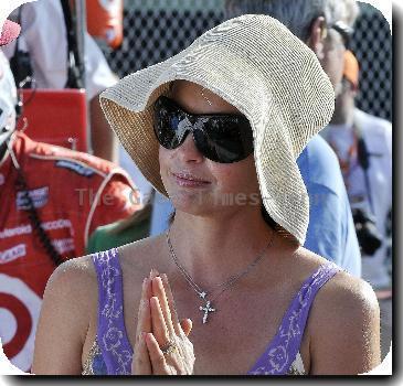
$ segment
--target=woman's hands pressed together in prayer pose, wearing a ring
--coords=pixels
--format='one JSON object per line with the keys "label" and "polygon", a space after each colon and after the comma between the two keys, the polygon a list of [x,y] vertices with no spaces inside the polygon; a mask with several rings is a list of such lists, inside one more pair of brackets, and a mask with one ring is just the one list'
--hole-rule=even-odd
{"label": "woman's hands pressed together in prayer pose, wearing a ring", "polygon": [[189,375],[193,373],[190,319],[179,322],[167,275],[152,270],[142,283],[131,373]]}

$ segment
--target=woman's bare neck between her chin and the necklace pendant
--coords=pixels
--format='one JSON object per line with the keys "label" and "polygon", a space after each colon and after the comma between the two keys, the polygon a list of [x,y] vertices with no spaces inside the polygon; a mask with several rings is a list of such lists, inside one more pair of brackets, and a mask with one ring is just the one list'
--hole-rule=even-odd
{"label": "woman's bare neck between her chin and the necklace pendant", "polygon": [[214,286],[245,269],[265,249],[273,232],[259,211],[214,217],[178,212],[170,239],[192,279]]}

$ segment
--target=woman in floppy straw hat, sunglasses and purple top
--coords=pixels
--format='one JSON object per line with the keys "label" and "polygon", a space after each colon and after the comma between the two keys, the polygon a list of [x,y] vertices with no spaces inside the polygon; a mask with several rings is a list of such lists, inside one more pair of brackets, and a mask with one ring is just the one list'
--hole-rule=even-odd
{"label": "woman in floppy straw hat, sunglasses and purple top", "polygon": [[34,373],[358,374],[379,364],[370,286],[300,247],[308,200],[295,160],[333,106],[308,47],[269,17],[232,19],[121,79],[102,105],[176,215],[165,235],[57,269]]}

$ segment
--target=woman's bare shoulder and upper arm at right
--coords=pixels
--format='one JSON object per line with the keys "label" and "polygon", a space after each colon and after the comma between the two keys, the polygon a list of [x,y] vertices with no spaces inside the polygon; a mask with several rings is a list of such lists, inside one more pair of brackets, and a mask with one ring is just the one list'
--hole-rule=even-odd
{"label": "woman's bare shoulder and upper arm at right", "polygon": [[310,314],[310,374],[362,374],[380,364],[380,312],[369,283],[338,274]]}

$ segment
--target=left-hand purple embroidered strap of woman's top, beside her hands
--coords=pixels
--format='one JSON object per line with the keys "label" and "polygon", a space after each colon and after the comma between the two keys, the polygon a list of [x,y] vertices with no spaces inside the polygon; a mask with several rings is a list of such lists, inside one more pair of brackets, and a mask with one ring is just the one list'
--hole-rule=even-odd
{"label": "left-hand purple embroidered strap of woman's top, beside her hands", "polygon": [[131,373],[132,349],[127,339],[123,276],[116,248],[93,255],[98,280],[97,341],[109,375]]}

